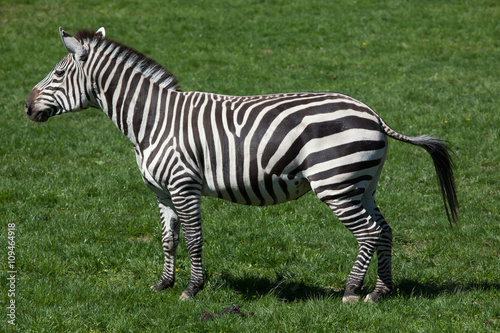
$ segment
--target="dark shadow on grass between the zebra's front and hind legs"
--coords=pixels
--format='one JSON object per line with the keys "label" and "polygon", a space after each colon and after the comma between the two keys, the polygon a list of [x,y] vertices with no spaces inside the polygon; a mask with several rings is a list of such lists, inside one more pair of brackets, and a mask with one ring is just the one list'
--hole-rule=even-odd
{"label": "dark shadow on grass between the zebra's front and hind legs", "polygon": [[295,302],[327,297],[341,298],[344,293],[343,289],[318,287],[282,277],[276,279],[266,277],[240,278],[223,274],[221,278],[229,288],[238,291],[248,300],[273,294],[284,302]]}

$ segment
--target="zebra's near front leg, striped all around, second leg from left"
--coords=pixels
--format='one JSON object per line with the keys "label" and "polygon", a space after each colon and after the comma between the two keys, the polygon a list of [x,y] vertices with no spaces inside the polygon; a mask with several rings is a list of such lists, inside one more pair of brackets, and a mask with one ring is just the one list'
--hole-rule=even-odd
{"label": "zebra's near front leg, striped all around, second leg from left", "polygon": [[181,300],[187,300],[202,290],[204,285],[201,262],[203,237],[201,233],[200,193],[190,188],[178,195],[172,194],[172,201],[181,220],[186,247],[191,259],[191,279],[180,297]]}

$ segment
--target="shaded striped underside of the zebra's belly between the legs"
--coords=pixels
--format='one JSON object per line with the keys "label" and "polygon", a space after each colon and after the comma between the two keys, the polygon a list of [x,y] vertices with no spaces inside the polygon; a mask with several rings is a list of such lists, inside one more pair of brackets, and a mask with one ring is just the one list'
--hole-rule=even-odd
{"label": "shaded striped underside of the zebra's belly between the legs", "polygon": [[266,175],[258,180],[248,179],[241,185],[215,187],[205,183],[202,194],[243,205],[269,206],[296,200],[311,190],[303,175]]}

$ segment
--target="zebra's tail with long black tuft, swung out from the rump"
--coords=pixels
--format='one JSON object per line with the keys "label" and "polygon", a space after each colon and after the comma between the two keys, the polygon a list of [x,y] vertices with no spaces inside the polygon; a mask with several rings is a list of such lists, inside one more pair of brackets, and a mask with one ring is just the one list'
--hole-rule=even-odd
{"label": "zebra's tail with long black tuft, swung out from the rump", "polygon": [[448,221],[450,221],[450,225],[453,225],[453,223],[456,224],[458,220],[458,200],[455,189],[455,177],[453,176],[454,164],[450,156],[452,151],[446,142],[429,135],[406,136],[394,131],[382,119],[381,123],[384,132],[391,138],[422,147],[431,155],[443,195],[446,216],[448,217]]}

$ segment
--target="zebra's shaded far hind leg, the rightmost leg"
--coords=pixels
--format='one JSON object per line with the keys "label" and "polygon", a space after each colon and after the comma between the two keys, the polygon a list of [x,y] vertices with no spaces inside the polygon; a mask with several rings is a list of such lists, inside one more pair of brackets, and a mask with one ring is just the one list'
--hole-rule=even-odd
{"label": "zebra's shaded far hind leg, the rightmost leg", "polygon": [[392,294],[392,229],[385,221],[377,207],[373,196],[365,201],[364,207],[368,209],[372,219],[381,228],[380,238],[377,243],[377,284],[375,290],[366,295],[365,302],[376,303],[378,299]]}

